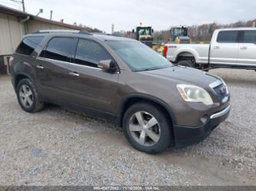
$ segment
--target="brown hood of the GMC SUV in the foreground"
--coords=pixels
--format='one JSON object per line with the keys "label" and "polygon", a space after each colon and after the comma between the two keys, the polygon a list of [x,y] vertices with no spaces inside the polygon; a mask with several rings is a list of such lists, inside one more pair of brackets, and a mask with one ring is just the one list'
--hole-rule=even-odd
{"label": "brown hood of the GMC SUV in the foreground", "polygon": [[199,71],[194,68],[175,66],[154,71],[142,71],[143,74],[153,75],[155,77],[165,78],[170,81],[177,81],[181,84],[192,84],[201,87],[208,87],[209,84],[217,81],[219,78],[208,72]]}

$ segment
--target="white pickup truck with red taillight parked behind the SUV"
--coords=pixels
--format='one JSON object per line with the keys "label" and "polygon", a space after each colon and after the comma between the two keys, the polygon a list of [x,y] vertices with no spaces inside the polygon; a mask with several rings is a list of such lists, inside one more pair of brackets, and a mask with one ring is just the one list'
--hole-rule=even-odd
{"label": "white pickup truck with red taillight parked behind the SUV", "polygon": [[256,70],[256,28],[215,30],[211,44],[165,44],[163,55],[191,68]]}

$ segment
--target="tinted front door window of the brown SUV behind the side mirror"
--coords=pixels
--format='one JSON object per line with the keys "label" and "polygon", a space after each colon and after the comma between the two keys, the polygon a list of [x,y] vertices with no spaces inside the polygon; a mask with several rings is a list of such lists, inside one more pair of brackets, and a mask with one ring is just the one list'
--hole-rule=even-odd
{"label": "tinted front door window of the brown SUV behind the side mirror", "polygon": [[97,42],[79,39],[75,54],[76,64],[98,67],[99,61],[111,59],[110,54]]}

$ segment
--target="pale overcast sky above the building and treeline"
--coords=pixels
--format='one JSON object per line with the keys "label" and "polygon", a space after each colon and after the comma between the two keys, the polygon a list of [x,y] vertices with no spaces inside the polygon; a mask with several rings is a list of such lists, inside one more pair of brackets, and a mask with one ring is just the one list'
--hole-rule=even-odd
{"label": "pale overcast sky above the building and treeline", "polygon": [[[1,5],[19,8],[11,0],[0,0]],[[26,12],[36,15],[39,8],[43,18],[64,19],[65,23],[87,25],[106,32],[131,30],[142,22],[155,30],[174,25],[201,25],[218,22],[226,24],[256,18],[254,0],[25,0]]]}

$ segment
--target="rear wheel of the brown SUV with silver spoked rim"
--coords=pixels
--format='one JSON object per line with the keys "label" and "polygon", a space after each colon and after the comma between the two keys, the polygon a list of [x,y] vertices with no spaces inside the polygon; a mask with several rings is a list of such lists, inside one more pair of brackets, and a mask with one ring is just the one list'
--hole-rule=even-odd
{"label": "rear wheel of the brown SUV with silver spoked rim", "polygon": [[22,79],[18,82],[16,94],[18,97],[18,104],[26,112],[35,113],[42,110],[44,107],[44,103],[39,100],[35,85],[28,78]]}

